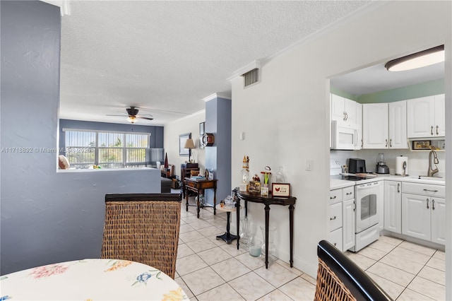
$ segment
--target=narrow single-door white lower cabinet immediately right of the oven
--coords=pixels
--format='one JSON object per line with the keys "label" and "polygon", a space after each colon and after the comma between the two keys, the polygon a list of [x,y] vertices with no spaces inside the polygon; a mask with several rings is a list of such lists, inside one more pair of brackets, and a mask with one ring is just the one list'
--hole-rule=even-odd
{"label": "narrow single-door white lower cabinet immediately right of the oven", "polygon": [[384,182],[384,230],[402,233],[402,183]]}

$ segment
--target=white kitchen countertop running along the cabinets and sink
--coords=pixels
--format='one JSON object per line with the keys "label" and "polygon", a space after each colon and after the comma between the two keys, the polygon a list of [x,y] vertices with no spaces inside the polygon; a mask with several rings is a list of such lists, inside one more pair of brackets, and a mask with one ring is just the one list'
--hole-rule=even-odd
{"label": "white kitchen countertop running along the cabinets and sink", "polygon": [[369,179],[362,179],[359,181],[349,181],[346,179],[342,179],[341,175],[332,175],[330,176],[330,189],[340,189],[345,187],[350,187],[359,184],[365,184],[369,182],[380,181],[382,179],[388,179],[392,181],[400,181],[400,182],[412,182],[412,183],[420,183],[420,184],[434,184],[434,185],[445,185],[446,179],[441,177],[421,177],[419,176],[408,176],[402,177],[398,175],[378,175],[376,177],[371,177]]}

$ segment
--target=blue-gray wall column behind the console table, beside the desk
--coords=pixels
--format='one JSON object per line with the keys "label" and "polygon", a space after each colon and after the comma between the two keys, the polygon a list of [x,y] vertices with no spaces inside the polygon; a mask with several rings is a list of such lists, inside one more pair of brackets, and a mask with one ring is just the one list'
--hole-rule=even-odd
{"label": "blue-gray wall column behind the console table, beside the desk", "polygon": [[[231,100],[214,98],[206,102],[206,133],[215,134],[215,144],[206,147],[206,168],[213,169],[218,179],[218,201],[232,194],[234,188],[231,187]],[[209,194],[206,191],[207,200]]]}

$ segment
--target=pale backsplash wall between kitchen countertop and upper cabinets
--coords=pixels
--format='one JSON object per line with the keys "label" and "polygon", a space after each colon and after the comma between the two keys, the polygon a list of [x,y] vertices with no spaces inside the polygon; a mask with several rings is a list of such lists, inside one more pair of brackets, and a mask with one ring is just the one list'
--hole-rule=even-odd
{"label": "pale backsplash wall between kitchen countertop and upper cabinets", "polygon": [[[348,158],[360,158],[366,160],[366,168],[368,172],[375,172],[376,157],[379,153],[384,154],[384,160],[389,167],[391,175],[396,173],[396,157],[404,155],[408,157],[408,174],[410,176],[427,175],[429,168],[429,152],[428,151],[409,151],[409,150],[360,150],[360,151],[330,151],[330,158],[340,160],[342,165],[348,165]],[[444,151],[436,151],[439,164],[437,164],[439,172],[435,177],[444,177],[446,172],[446,153]],[[434,165],[432,166],[434,168]]]}

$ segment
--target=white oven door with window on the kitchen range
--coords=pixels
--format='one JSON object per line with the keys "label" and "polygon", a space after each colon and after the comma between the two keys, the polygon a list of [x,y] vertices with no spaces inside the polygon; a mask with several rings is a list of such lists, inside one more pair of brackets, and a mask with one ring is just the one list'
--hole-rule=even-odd
{"label": "white oven door with window on the kitchen range", "polygon": [[379,223],[379,184],[379,182],[371,182],[356,186],[356,233]]}

